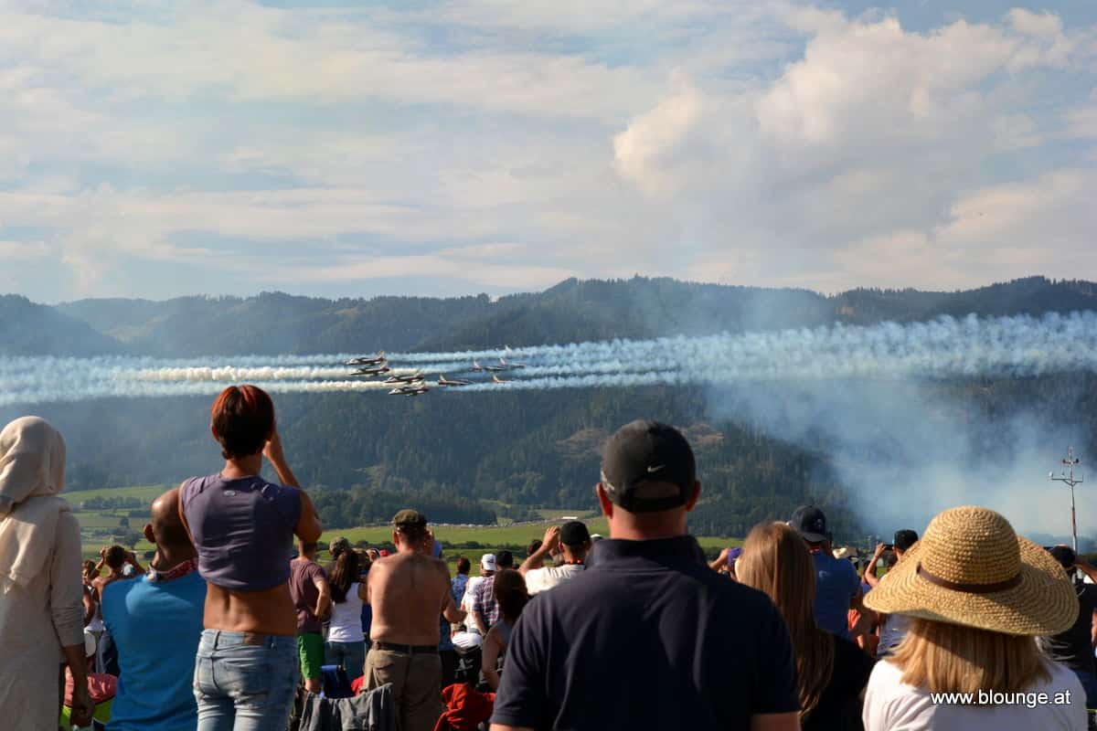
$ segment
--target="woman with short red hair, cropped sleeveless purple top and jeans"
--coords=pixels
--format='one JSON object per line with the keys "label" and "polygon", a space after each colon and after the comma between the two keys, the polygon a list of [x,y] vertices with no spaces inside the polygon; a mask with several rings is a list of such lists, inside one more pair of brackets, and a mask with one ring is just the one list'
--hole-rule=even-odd
{"label": "woman with short red hair, cropped sleeveless purple top and jeans", "polygon": [[[285,460],[270,396],[231,386],[210,418],[225,466],[186,480],[179,493],[206,580],[194,669],[197,729],[285,728],[298,677],[293,538],[316,542],[320,522]],[[281,484],[260,477],[264,457]]]}

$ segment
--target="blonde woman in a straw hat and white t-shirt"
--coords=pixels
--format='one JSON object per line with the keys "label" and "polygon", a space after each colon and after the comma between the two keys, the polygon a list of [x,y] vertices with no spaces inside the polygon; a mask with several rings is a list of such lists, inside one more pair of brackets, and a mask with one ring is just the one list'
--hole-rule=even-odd
{"label": "blonde woman in a straw hat and white t-shirt", "polygon": [[867,731],[1085,730],[1082,684],[1034,639],[1073,626],[1074,587],[998,513],[940,513],[864,603],[912,618],[872,672]]}

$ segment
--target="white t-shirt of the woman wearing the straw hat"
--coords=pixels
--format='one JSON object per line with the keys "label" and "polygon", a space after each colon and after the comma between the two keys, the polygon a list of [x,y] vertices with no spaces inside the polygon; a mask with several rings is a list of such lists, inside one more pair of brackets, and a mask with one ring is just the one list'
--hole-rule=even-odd
{"label": "white t-shirt of the woman wearing the straw hat", "polygon": [[[1020,705],[979,707],[935,704],[928,690],[901,681],[897,665],[878,662],[864,692],[864,731],[1086,731],[1086,694],[1078,676],[1065,665],[1049,665],[1051,681],[1026,690]],[[1055,694],[1066,692],[1071,704],[1055,705]],[[1041,693],[1049,703],[1034,703]]]}

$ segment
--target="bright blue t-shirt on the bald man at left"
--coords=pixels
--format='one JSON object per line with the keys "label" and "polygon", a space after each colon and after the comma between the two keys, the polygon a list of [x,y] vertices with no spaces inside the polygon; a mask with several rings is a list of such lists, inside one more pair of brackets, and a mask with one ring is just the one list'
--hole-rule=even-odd
{"label": "bright blue t-shirt on the bald man at left", "polygon": [[118,690],[109,731],[194,731],[194,654],[202,638],[205,580],[148,576],[103,590],[103,624],[118,648]]}

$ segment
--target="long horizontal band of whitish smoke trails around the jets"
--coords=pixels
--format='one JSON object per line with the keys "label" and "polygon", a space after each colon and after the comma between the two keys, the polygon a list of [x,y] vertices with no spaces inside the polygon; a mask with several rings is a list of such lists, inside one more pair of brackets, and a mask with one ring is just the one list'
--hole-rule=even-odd
{"label": "long horizontal band of whitish smoke trails around the jets", "polygon": [[[470,377],[465,374],[473,361],[496,366],[499,355],[500,351],[392,354],[389,363],[394,374],[422,368],[431,379],[434,374]],[[352,368],[342,364],[351,357],[0,357],[0,404],[210,395],[240,381],[259,382],[275,392],[392,388],[381,382],[383,378],[348,378]],[[483,380],[460,390],[1027,377],[1097,370],[1097,313],[942,317],[909,324],[569,343],[520,349],[505,357],[527,367],[500,374],[508,384],[493,384],[482,374],[475,378]]]}

